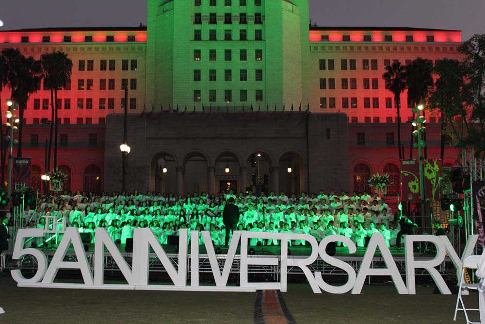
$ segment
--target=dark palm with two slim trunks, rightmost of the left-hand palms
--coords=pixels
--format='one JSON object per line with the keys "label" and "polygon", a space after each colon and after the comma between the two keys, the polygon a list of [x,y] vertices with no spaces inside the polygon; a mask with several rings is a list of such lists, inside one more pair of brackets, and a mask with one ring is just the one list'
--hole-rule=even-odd
{"label": "dark palm with two slim trunks, rightmost of the left-hand palms", "polygon": [[67,54],[61,51],[46,53],[41,56],[42,68],[44,70],[44,83],[50,89],[50,107],[52,108],[48,168],[50,168],[50,152],[52,147],[52,127],[54,130],[54,163],[53,169],[57,168],[57,90],[62,89],[71,77],[72,61]]}

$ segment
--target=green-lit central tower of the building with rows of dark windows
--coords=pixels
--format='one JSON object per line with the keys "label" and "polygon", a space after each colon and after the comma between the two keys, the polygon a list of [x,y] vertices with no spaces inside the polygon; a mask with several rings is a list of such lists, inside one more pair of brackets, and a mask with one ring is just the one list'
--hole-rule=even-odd
{"label": "green-lit central tower of the building with rows of dark windows", "polygon": [[305,109],[307,0],[148,0],[146,105]]}

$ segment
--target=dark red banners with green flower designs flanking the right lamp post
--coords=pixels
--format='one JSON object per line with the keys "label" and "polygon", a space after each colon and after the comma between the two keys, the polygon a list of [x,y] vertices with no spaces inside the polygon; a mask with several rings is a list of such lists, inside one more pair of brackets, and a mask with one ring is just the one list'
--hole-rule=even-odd
{"label": "dark red banners with green flower designs flanking the right lamp post", "polygon": [[[423,160],[424,189],[426,199],[440,200],[439,177],[442,161],[436,159]],[[401,160],[401,195],[403,201],[420,201],[420,165],[419,159]]]}

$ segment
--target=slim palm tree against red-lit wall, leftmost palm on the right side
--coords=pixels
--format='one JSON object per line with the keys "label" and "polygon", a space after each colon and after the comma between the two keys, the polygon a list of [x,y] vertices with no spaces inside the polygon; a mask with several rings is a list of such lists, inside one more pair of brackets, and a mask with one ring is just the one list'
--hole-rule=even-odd
{"label": "slim palm tree against red-lit wall, leftmost palm on the right side", "polygon": [[401,62],[394,62],[391,66],[386,67],[386,72],[382,75],[386,82],[386,88],[394,94],[394,106],[397,109],[397,149],[399,159],[403,158],[401,151],[401,93],[406,88],[406,68]]}

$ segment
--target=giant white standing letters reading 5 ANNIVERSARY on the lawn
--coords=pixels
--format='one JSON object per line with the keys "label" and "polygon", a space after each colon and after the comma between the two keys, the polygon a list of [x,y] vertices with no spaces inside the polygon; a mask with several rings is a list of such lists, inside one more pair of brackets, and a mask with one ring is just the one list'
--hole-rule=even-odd
{"label": "giant white standing letters reading 5 ANNIVERSARY on the lawn", "polygon": [[[64,226],[63,226],[64,227]],[[57,228],[57,227],[54,227]],[[436,283],[437,288],[443,294],[451,294],[443,277],[436,267],[443,263],[445,254],[448,253],[453,262],[457,273],[460,273],[463,263],[467,256],[472,255],[475,248],[477,235],[471,235],[463,250],[463,256],[458,256],[450,240],[446,236],[434,235],[406,235],[405,236],[405,279],[399,273],[396,262],[387,246],[386,240],[381,233],[374,233],[369,241],[367,250],[362,258],[358,272],[354,267],[336,257],[326,253],[326,246],[330,242],[342,242],[347,245],[349,254],[356,253],[355,243],[340,235],[330,235],[320,243],[308,234],[272,233],[272,232],[233,232],[231,243],[227,251],[226,259],[223,261],[221,273],[221,260],[215,254],[209,231],[191,231],[191,253],[188,254],[188,231],[181,229],[179,233],[178,265],[177,269],[172,260],[163,250],[159,240],[149,228],[135,228],[133,231],[133,252],[131,264],[122,256],[118,247],[113,243],[109,233],[105,228],[97,228],[95,232],[95,252],[94,265],[88,262],[84,251],[81,236],[77,228],[68,227],[63,232],[63,238],[57,247],[50,264],[47,256],[41,250],[34,248],[24,248],[26,239],[31,237],[43,237],[46,232],[59,232],[56,230],[45,231],[42,229],[19,229],[13,251],[13,259],[21,259],[23,256],[30,255],[34,264],[38,265],[37,272],[32,278],[25,278],[20,270],[12,270],[12,277],[19,287],[38,287],[38,288],[66,288],[66,289],[103,289],[103,290],[197,290],[197,291],[256,291],[256,290],[287,290],[287,276],[289,268],[300,268],[305,275],[308,284],[314,293],[327,291],[330,293],[346,293],[352,291],[359,294],[366,282],[367,276],[386,276],[391,277],[394,286],[399,294],[416,294],[415,275],[416,269],[422,268],[430,273]],[[215,286],[199,285],[199,234],[204,238],[204,245],[207,251],[207,258],[214,276]],[[279,256],[248,256],[248,240],[250,239],[276,239],[281,241],[281,253]],[[311,247],[309,256],[289,256],[289,240],[305,240]],[[415,242],[431,242],[436,247],[436,256],[431,259],[415,259],[413,245]],[[76,261],[65,261],[65,254],[71,247],[74,248]],[[232,263],[236,256],[236,251],[240,245],[240,286],[226,287],[227,280],[232,268]],[[163,268],[168,273],[173,285],[149,285],[149,263],[150,248],[160,259]],[[119,267],[125,277],[127,284],[104,284],[104,263],[105,249],[113,257],[113,261]],[[379,249],[380,257],[384,260],[386,268],[373,268],[372,259]],[[204,256],[205,257],[205,256]],[[321,272],[311,272],[311,264],[320,257],[322,262],[334,265],[347,273],[348,279],[344,285],[334,286],[323,280]],[[93,259],[91,260],[91,262]],[[190,267],[188,262],[190,261]],[[248,268],[252,265],[271,265],[278,267],[280,282],[249,282]],[[81,270],[83,284],[73,283],[54,283],[54,279],[59,269],[79,269]],[[187,278],[190,272],[190,286],[187,285]],[[459,280],[462,280],[460,278]]]}

